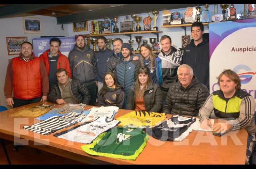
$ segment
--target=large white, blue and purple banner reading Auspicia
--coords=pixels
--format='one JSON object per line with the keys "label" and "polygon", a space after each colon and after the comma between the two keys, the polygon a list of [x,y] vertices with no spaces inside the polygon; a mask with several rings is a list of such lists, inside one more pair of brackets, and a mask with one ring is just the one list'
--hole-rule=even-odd
{"label": "large white, blue and purple banner reading Auspicia", "polygon": [[240,77],[241,89],[256,99],[256,18],[209,24],[210,92],[219,90],[218,75],[224,69]]}

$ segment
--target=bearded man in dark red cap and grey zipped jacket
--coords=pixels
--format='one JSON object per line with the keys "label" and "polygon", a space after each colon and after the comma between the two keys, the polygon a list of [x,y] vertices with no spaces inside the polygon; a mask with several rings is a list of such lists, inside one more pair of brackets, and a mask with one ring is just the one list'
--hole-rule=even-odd
{"label": "bearded man in dark red cap and grey zipped jacket", "polygon": [[83,35],[76,36],[76,45],[69,52],[68,60],[70,64],[72,78],[76,78],[87,87],[91,100],[89,105],[94,105],[96,101],[96,64],[93,50],[85,45]]}

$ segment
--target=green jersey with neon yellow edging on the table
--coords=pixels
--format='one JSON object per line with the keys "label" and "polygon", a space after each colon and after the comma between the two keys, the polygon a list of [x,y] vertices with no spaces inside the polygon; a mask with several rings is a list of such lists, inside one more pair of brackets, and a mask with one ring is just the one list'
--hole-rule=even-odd
{"label": "green jersey with neon yellow edging on the table", "polygon": [[82,149],[92,155],[135,160],[146,146],[148,135],[139,128],[117,127],[100,134]]}

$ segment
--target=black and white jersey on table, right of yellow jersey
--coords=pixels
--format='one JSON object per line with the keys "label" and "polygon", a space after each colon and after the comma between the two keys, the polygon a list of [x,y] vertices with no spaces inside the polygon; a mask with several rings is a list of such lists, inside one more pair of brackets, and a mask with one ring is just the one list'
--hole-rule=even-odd
{"label": "black and white jersey on table, right of yellow jersey", "polygon": [[188,118],[174,115],[160,125],[146,128],[146,132],[148,135],[162,141],[182,141],[192,131],[191,124],[195,121],[195,117]]}

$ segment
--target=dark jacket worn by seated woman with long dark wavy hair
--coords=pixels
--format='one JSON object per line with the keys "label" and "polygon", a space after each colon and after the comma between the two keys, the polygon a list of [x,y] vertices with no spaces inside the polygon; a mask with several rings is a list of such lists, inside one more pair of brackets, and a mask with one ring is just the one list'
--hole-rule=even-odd
{"label": "dark jacket worn by seated woman with long dark wavy hair", "polygon": [[123,107],[125,93],[120,87],[115,89],[107,88],[107,92],[104,96],[100,96],[98,93],[97,104],[98,106],[117,106],[119,108]]}

